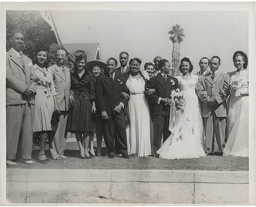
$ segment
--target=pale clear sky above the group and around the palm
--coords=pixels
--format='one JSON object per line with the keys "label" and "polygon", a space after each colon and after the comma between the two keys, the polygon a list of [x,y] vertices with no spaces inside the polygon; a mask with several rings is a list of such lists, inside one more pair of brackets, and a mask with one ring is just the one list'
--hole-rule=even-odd
{"label": "pale clear sky above the group and around the palm", "polygon": [[[236,70],[232,56],[248,55],[248,14],[245,11],[52,11],[63,44],[99,43],[102,61],[127,51],[129,58],[152,61],[161,56],[172,61],[173,43],[168,31],[175,24],[184,29],[181,55],[199,71],[201,57],[221,58],[220,70]],[[120,65],[120,64],[118,64]]]}

